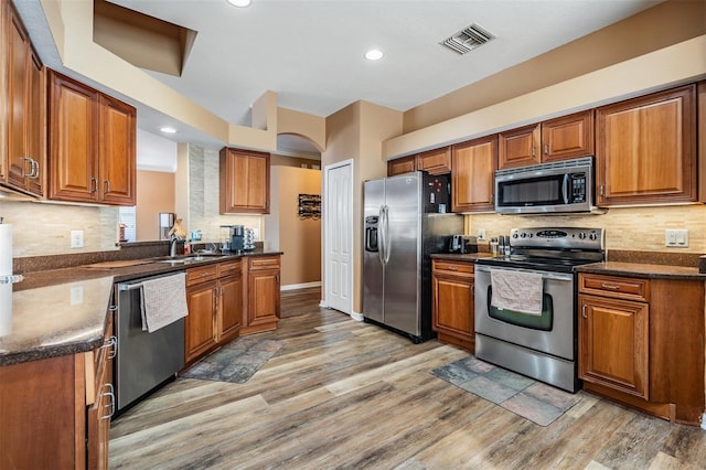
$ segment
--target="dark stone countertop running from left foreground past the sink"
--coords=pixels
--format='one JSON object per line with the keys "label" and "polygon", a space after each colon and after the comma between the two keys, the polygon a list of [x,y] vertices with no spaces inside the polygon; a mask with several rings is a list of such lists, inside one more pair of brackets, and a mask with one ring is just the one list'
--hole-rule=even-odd
{"label": "dark stone countertop running from left foreground past the sink", "polygon": [[75,266],[28,273],[20,282],[0,285],[0,366],[87,352],[103,345],[114,282],[268,255],[281,252],[256,249],[191,257],[178,264],[156,258],[136,260],[141,264],[126,267]]}

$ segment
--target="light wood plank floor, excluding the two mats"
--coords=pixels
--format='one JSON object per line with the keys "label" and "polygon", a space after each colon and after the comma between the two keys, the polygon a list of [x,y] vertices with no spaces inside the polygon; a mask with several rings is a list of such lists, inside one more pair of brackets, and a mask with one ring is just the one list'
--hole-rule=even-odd
{"label": "light wood plank floor, excluding the two mats", "polygon": [[542,427],[429,373],[468,354],[282,293],[245,384],[178,378],[117,418],[110,468],[696,469],[706,431],[582,394]]}

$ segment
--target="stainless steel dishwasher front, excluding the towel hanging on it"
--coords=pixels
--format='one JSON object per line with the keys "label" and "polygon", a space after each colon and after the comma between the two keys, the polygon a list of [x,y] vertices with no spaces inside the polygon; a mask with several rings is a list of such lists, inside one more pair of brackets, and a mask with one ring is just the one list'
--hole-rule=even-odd
{"label": "stainless steel dishwasher front, excluding the towel hanging on it", "polygon": [[[173,273],[172,273],[173,274]],[[152,333],[142,331],[141,278],[115,286],[118,354],[115,363],[117,412],[132,404],[184,366],[184,319]]]}

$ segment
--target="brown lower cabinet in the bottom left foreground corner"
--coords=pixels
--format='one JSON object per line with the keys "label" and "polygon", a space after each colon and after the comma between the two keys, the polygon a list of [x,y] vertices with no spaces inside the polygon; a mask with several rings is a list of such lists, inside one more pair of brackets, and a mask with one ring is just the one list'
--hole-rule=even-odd
{"label": "brown lower cabinet in the bottom left foreground corner", "polygon": [[111,331],[93,352],[0,367],[0,468],[108,468]]}

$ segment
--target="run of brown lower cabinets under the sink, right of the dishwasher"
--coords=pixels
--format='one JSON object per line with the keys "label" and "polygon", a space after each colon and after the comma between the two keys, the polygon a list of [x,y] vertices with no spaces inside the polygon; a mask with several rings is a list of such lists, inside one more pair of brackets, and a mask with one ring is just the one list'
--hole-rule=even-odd
{"label": "run of brown lower cabinets under the sink, right of the dishwasher", "polygon": [[186,269],[185,363],[279,323],[279,255]]}

